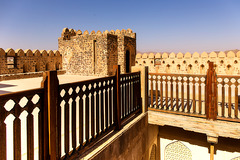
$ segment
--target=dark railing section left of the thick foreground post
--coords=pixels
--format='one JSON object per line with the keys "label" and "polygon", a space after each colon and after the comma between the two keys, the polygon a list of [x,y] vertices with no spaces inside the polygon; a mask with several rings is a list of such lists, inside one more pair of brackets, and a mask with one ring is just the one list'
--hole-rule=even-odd
{"label": "dark railing section left of the thick foreground post", "polygon": [[[43,159],[43,95],[42,88],[0,95],[0,159],[20,160],[22,152],[27,153],[27,159]],[[27,134],[21,135],[23,130]],[[21,146],[26,150],[21,150]]]}

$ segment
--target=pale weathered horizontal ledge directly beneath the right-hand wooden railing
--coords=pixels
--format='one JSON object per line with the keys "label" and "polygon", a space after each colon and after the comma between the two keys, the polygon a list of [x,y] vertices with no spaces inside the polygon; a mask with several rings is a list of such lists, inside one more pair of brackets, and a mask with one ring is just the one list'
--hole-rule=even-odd
{"label": "pale weathered horizontal ledge directly beneath the right-hand wooden railing", "polygon": [[240,125],[235,122],[207,120],[177,114],[148,111],[148,123],[160,126],[173,126],[186,131],[203,133],[210,137],[240,139]]}

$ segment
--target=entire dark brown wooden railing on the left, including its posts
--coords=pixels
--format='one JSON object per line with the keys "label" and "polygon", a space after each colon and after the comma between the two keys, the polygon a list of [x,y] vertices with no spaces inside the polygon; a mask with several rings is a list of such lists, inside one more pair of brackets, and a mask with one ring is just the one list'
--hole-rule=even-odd
{"label": "entire dark brown wooden railing on the left, including its posts", "polygon": [[[30,160],[74,159],[121,129],[141,112],[140,73],[120,75],[120,66],[114,68],[115,76],[61,85],[56,71],[49,71],[42,88],[0,95],[0,159],[21,159],[24,145]],[[26,144],[20,118],[25,112]],[[8,132],[13,144],[5,122],[11,115],[13,129]]]}

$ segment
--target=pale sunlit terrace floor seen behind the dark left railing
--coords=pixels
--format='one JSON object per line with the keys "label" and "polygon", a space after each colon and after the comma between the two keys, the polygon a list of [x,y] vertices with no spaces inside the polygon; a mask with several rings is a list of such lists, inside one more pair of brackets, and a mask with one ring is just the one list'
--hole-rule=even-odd
{"label": "pale sunlit terrace floor seen behind the dark left railing", "polygon": [[[99,78],[99,77],[66,75],[66,74],[58,75],[60,84],[84,81],[84,80],[95,79],[95,78]],[[39,88],[41,86],[41,81],[42,81],[42,77],[0,81],[0,94]]]}

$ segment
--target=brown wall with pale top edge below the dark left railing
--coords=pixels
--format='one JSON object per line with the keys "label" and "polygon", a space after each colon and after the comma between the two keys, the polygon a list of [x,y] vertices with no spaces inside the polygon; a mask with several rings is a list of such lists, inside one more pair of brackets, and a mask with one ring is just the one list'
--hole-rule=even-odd
{"label": "brown wall with pale top edge below the dark left railing", "polygon": [[78,159],[148,160],[152,145],[157,143],[159,127],[148,124],[147,113],[140,115],[130,123],[113,135],[111,140],[102,142],[101,146],[87,153],[86,157]]}

